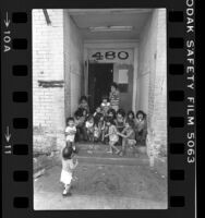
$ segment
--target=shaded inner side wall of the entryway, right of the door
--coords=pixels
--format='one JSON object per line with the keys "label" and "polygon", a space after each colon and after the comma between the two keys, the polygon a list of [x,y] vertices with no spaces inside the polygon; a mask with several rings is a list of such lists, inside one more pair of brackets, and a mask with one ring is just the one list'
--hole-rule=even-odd
{"label": "shaded inner side wall of the entryway, right of the door", "polygon": [[157,13],[152,13],[140,36],[137,110],[148,113],[154,99],[155,53],[157,52]]}

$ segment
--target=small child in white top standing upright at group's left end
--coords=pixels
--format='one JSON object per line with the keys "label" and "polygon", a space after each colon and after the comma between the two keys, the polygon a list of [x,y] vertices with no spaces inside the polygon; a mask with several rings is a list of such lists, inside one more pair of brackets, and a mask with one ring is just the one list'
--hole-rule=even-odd
{"label": "small child in white top standing upright at group's left end", "polygon": [[73,150],[75,150],[75,145],[74,145],[75,134],[76,134],[76,126],[74,118],[70,117],[67,119],[65,140],[67,140],[67,145],[71,146]]}

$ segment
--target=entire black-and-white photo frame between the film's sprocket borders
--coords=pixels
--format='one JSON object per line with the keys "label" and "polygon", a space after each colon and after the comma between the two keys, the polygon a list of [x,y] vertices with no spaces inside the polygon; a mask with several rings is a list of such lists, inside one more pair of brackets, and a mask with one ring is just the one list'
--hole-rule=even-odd
{"label": "entire black-and-white photo frame between the film's sprocket borders", "polygon": [[167,209],[167,11],[33,9],[35,210]]}

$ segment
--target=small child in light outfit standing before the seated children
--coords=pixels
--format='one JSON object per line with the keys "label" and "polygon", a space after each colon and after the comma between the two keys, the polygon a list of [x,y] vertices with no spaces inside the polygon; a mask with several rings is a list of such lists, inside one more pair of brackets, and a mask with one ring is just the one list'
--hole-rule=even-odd
{"label": "small child in light outfit standing before the seated children", "polygon": [[112,119],[108,118],[107,120],[107,126],[108,126],[108,134],[105,135],[105,137],[109,136],[109,146],[110,149],[108,153],[113,154],[113,149],[116,150],[116,154],[120,153],[120,149],[118,149],[114,145],[118,143],[119,141],[119,136],[117,134],[117,128],[114,125],[114,122]]}

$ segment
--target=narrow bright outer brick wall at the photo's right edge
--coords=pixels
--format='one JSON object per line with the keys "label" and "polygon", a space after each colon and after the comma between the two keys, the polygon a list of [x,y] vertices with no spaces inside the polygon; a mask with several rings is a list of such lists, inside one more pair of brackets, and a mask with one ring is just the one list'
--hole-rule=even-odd
{"label": "narrow bright outer brick wall at the photo's right edge", "polygon": [[167,149],[167,36],[166,10],[158,10],[155,98],[152,126],[161,152]]}

